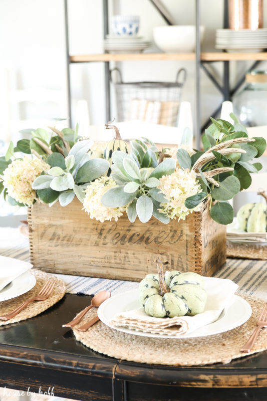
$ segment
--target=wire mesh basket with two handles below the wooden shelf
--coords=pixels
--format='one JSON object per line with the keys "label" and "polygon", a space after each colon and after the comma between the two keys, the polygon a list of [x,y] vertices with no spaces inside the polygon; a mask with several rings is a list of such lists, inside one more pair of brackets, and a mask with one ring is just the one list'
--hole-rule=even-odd
{"label": "wire mesh basket with two handles below the wooden shelf", "polygon": [[[118,82],[113,81],[115,71]],[[110,70],[110,81],[116,93],[117,120],[176,126],[185,79],[184,68],[177,72],[174,82],[123,82],[118,68]]]}

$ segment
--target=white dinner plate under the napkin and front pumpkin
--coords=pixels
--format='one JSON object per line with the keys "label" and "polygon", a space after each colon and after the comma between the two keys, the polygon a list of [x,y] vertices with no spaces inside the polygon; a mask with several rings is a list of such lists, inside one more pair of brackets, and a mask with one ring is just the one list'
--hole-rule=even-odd
{"label": "white dinner plate under the napkin and front pumpkin", "polygon": [[[163,336],[155,333],[144,333],[142,331],[136,331],[127,329],[125,327],[113,327],[110,326],[109,321],[117,313],[126,312],[133,309],[140,308],[140,302],[138,299],[139,292],[138,289],[126,291],[124,293],[115,295],[103,302],[98,308],[98,317],[107,326],[122,331],[128,334],[141,335],[144,337],[155,337],[155,338],[179,338],[177,336]],[[235,327],[241,326],[245,323],[251,316],[251,307],[248,302],[243,298],[233,295],[227,307],[224,308],[218,319],[206,326],[200,327],[197,330],[184,334],[180,338],[190,338],[190,337],[203,337],[212,334],[223,333],[224,331],[229,331]]]}

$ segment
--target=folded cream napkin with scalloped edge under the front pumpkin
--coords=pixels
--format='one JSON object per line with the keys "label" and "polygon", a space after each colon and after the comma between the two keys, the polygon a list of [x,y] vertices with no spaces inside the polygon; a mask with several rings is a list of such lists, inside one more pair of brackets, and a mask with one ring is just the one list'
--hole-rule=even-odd
{"label": "folded cream napkin with scalloped edge under the front pumpkin", "polygon": [[180,337],[183,334],[212,323],[230,301],[238,285],[229,279],[203,277],[207,291],[207,302],[203,313],[195,316],[157,318],[148,316],[143,307],[118,313],[110,321],[113,327],[125,327],[145,333]]}

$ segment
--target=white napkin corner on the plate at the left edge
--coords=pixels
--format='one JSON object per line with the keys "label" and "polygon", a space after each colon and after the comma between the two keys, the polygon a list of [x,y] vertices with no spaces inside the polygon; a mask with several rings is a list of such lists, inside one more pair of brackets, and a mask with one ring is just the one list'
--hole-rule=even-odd
{"label": "white napkin corner on the plate at the left edge", "polygon": [[0,291],[32,267],[29,262],[0,255]]}

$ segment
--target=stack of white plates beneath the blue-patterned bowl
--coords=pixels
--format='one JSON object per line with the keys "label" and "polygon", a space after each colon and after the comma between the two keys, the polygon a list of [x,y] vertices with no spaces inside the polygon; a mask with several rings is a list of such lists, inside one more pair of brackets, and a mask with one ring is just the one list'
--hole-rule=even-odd
{"label": "stack of white plates beneath the blue-patterned bowl", "polygon": [[104,49],[109,53],[140,53],[151,46],[141,36],[107,35],[104,40]]}

